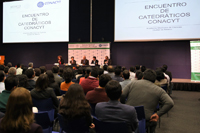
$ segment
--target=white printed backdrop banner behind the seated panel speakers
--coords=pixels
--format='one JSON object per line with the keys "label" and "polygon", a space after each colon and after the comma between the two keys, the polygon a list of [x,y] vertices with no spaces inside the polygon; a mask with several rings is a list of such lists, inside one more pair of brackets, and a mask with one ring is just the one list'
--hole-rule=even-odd
{"label": "white printed backdrop banner behind the seated panel speakers", "polygon": [[99,60],[99,65],[104,64],[105,56],[110,58],[110,43],[69,43],[68,44],[68,63],[71,57],[74,56],[77,64],[81,64],[83,56],[89,60],[91,65],[93,56]]}

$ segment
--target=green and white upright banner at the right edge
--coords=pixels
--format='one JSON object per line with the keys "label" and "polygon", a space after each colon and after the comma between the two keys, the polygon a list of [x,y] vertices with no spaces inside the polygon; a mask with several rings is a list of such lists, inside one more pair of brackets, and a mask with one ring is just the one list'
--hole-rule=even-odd
{"label": "green and white upright banner at the right edge", "polygon": [[191,80],[200,81],[200,41],[191,41]]}

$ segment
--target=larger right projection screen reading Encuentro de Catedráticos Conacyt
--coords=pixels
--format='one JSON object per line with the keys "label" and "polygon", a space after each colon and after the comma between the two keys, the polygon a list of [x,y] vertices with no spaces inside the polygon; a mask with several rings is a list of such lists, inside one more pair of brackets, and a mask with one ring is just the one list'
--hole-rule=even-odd
{"label": "larger right projection screen reading Encuentro de Catedr\u00e1ticos Conacyt", "polygon": [[200,0],[115,0],[115,41],[200,39]]}

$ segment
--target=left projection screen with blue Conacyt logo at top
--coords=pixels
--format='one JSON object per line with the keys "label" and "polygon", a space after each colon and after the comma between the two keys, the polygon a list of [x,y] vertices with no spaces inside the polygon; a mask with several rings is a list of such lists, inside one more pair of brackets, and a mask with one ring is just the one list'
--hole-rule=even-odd
{"label": "left projection screen with blue Conacyt logo at top", "polygon": [[3,3],[3,43],[68,41],[69,0]]}

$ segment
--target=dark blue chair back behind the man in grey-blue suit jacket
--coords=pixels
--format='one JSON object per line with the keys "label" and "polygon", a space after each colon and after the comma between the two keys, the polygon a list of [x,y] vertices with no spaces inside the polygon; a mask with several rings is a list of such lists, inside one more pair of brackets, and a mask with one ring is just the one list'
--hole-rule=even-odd
{"label": "dark blue chair back behind the man in grey-blue suit jacket", "polygon": [[125,122],[103,122],[93,117],[96,133],[129,133]]}

